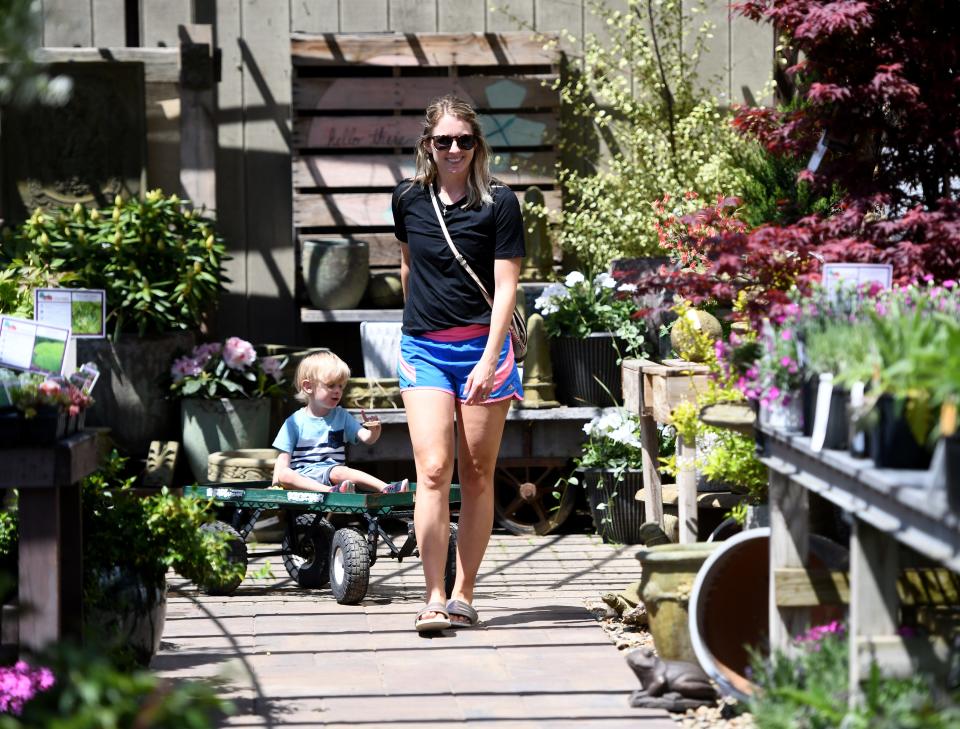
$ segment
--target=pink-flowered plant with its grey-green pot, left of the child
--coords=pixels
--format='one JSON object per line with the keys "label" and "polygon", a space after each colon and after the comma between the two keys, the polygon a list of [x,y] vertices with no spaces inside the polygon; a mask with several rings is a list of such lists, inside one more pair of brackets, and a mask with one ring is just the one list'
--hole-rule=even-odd
{"label": "pink-flowered plant with its grey-green pot, left of the child", "polygon": [[285,363],[257,356],[239,337],[199,344],[173,360],[170,390],[181,398],[182,443],[194,478],[207,480],[211,453],[270,444],[270,398],[286,392]]}

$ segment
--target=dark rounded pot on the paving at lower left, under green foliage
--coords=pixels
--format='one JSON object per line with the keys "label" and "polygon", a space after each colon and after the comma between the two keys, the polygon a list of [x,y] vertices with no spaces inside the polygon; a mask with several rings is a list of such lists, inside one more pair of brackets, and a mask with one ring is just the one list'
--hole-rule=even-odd
{"label": "dark rounded pot on the paving at lower left, under green foliage", "polygon": [[160,648],[167,618],[167,584],[151,583],[128,568],[100,573],[98,595],[86,606],[88,643],[129,651],[138,665],[150,665]]}

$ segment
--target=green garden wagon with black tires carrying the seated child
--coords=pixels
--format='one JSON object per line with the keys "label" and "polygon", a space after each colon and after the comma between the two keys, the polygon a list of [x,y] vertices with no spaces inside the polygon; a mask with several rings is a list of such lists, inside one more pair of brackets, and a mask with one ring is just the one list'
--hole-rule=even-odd
{"label": "green garden wagon with black tires carrying the seated child", "polygon": [[[317,493],[271,489],[269,481],[236,481],[187,486],[185,495],[213,499],[218,520],[208,528],[227,532],[232,561],[247,563],[246,540],[264,509],[285,512],[286,527],[278,551],[258,552],[280,556],[290,577],[301,587],[330,586],[337,602],[356,605],[367,594],[370,567],[377,561],[382,541],[389,557],[398,562],[419,556],[413,530],[416,484],[400,494]],[[450,488],[450,502],[459,503],[460,488]],[[398,547],[381,525],[389,517],[406,524],[407,538]],[[457,527],[450,524],[450,546],[444,581],[447,593],[457,574]],[[229,595],[243,578],[231,583],[207,586],[211,594]]]}

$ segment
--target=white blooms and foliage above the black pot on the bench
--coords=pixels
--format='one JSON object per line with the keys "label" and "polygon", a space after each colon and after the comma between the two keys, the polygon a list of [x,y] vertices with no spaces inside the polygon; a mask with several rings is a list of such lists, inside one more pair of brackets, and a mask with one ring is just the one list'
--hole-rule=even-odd
{"label": "white blooms and foliage above the black pot on the bench", "polygon": [[611,332],[626,344],[623,356],[642,356],[646,326],[632,294],[634,284],[618,284],[608,273],[587,280],[571,271],[562,282],[544,288],[533,305],[543,315],[547,335],[583,339]]}

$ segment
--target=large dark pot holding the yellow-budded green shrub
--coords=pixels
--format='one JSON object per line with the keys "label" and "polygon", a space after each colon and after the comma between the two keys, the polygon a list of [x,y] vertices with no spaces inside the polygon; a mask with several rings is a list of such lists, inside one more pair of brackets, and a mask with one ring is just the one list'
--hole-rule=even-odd
{"label": "large dark pot holding the yellow-budded green shrub", "polygon": [[117,448],[127,455],[146,456],[150,441],[178,440],[179,404],[170,399],[163,379],[175,355],[189,352],[192,332],[157,336],[121,335],[109,339],[78,339],[77,362],[94,362],[100,379],[86,425],[107,426]]}

